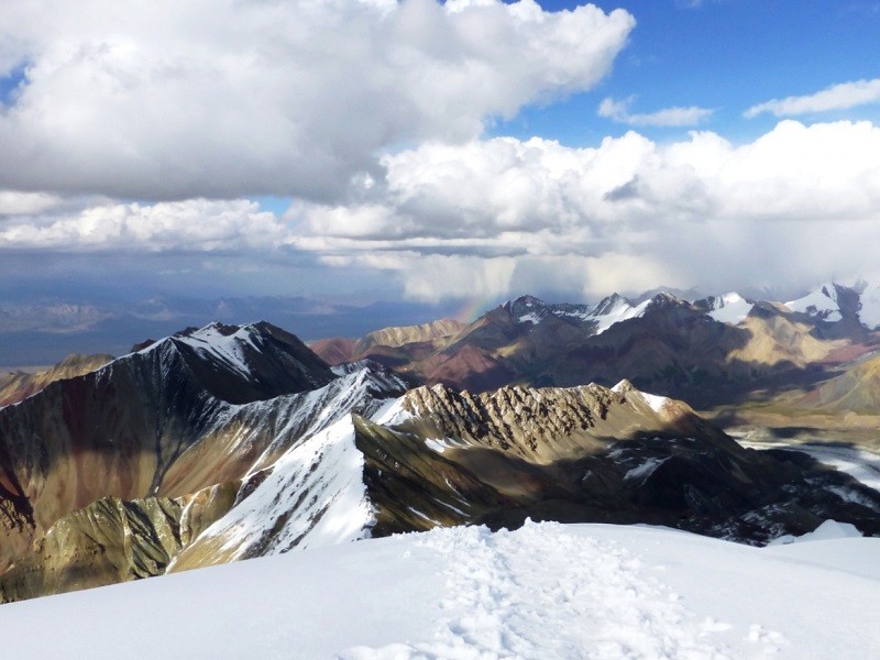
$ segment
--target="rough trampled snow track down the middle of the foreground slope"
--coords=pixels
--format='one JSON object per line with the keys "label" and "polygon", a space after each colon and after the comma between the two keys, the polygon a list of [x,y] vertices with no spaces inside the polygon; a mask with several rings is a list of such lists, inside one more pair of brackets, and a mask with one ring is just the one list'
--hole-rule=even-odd
{"label": "rough trampled snow track down the middle of the foreground slope", "polygon": [[419,544],[446,560],[433,638],[350,649],[348,660],[724,658],[679,596],[612,541],[527,524],[509,532],[435,530]]}

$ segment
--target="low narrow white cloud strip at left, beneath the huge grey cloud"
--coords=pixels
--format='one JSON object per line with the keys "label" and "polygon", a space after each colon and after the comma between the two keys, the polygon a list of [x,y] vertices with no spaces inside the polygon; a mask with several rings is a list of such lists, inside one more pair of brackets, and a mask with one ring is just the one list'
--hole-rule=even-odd
{"label": "low narrow white cloud strip at left, beneath the huge grey cloud", "polygon": [[191,199],[12,217],[0,223],[0,250],[241,253],[277,248],[286,235],[286,227],[255,202]]}

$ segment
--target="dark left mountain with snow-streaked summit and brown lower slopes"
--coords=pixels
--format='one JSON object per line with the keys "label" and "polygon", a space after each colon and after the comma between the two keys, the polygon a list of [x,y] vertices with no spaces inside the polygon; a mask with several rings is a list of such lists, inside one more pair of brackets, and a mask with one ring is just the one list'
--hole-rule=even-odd
{"label": "dark left mountain with snow-streaked summit and brown lower slopes", "polygon": [[179,497],[243,476],[275,439],[261,399],[337,378],[295,339],[213,324],[0,408],[0,570],[100,498]]}

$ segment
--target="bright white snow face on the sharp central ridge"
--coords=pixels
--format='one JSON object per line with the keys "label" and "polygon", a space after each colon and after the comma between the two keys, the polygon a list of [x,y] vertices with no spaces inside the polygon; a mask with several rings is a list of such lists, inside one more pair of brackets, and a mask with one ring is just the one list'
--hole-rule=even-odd
{"label": "bright white snow face on the sharp central ridge", "polygon": [[265,479],[194,544],[218,539],[228,559],[239,559],[257,548],[260,554],[275,554],[369,536],[373,512],[351,414],[403,420],[407,414],[402,398],[378,398],[399,393],[400,385],[396,376],[362,369],[307,394],[240,406],[246,419],[260,418],[271,406],[287,406],[289,411],[245,482],[258,480],[257,472]]}

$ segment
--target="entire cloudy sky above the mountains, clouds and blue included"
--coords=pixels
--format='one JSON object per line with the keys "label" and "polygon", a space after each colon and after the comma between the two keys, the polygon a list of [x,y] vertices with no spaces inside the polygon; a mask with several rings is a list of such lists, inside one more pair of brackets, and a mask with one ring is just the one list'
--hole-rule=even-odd
{"label": "entire cloudy sky above the mountains, clouds and blue included", "polygon": [[880,2],[0,4],[0,306],[880,272]]}

